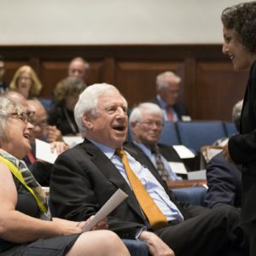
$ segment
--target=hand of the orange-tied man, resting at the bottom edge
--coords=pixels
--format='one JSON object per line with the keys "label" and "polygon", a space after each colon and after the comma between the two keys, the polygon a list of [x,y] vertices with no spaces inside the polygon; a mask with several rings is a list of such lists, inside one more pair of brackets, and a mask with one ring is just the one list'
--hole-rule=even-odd
{"label": "hand of the orange-tied man, resting at the bottom edge", "polygon": [[164,241],[162,241],[152,232],[143,231],[139,236],[139,240],[147,242],[150,255],[175,256],[172,249],[168,247]]}

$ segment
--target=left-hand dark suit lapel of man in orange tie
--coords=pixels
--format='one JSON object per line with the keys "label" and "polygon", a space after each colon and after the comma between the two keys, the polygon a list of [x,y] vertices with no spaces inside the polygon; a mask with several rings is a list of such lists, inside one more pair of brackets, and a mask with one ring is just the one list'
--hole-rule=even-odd
{"label": "left-hand dark suit lapel of man in orange tie", "polygon": [[133,211],[137,212],[137,214],[143,218],[141,208],[139,207],[137,199],[132,193],[129,184],[125,181],[125,178],[120,174],[119,170],[113,165],[111,160],[103,154],[102,150],[97,148],[93,143],[90,143],[87,139],[84,140],[83,148],[87,154],[90,155],[90,160],[105,175],[105,177],[128,195],[128,198],[125,201]]}

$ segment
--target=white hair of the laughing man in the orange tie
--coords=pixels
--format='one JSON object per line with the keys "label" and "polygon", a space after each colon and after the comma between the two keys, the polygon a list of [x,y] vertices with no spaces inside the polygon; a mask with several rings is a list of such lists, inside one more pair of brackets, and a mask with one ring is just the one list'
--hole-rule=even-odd
{"label": "white hair of the laughing man in the orange tie", "polygon": [[[86,127],[83,123],[84,113],[90,113],[94,116],[98,114],[98,99],[100,96],[106,94],[109,90],[119,90],[111,84],[92,84],[88,86],[79,96],[79,101],[74,108],[74,118],[79,126],[79,131],[82,137],[86,137]],[[121,94],[120,94],[121,95]],[[123,97],[125,105],[127,107],[127,102]]]}

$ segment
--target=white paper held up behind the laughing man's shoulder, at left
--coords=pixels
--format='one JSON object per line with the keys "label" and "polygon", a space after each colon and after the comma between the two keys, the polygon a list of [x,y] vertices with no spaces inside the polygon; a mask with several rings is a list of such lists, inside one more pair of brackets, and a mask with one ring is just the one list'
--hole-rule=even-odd
{"label": "white paper held up behind the laughing man's shoulder, at left", "polygon": [[36,139],[36,158],[54,164],[58,154],[50,150],[50,144]]}

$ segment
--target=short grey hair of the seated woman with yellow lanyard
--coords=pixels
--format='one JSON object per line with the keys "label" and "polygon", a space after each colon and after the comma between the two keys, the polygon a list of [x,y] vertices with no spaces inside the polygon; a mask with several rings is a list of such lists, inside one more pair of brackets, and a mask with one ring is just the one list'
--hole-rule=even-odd
{"label": "short grey hair of the seated woman with yellow lanyard", "polygon": [[13,102],[8,97],[0,96],[0,147],[3,146],[3,143],[9,142],[9,113],[21,113],[23,110],[20,103]]}

